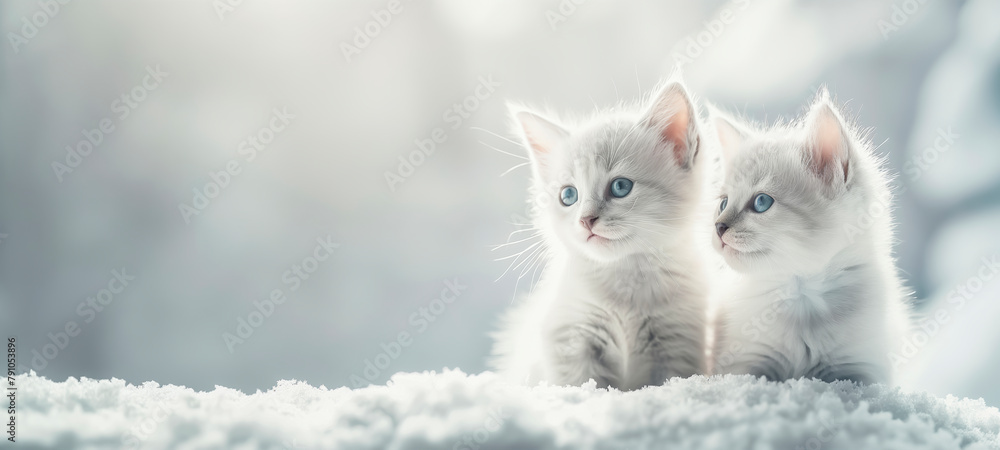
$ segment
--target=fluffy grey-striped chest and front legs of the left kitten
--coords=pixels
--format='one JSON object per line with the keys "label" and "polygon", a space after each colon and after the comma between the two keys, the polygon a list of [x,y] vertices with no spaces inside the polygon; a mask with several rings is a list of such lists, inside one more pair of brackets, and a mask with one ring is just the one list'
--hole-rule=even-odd
{"label": "fluffy grey-striped chest and front legs of the left kitten", "polygon": [[566,265],[544,313],[549,378],[633,389],[704,372],[700,274],[635,259],[586,276],[574,272],[592,269]]}

